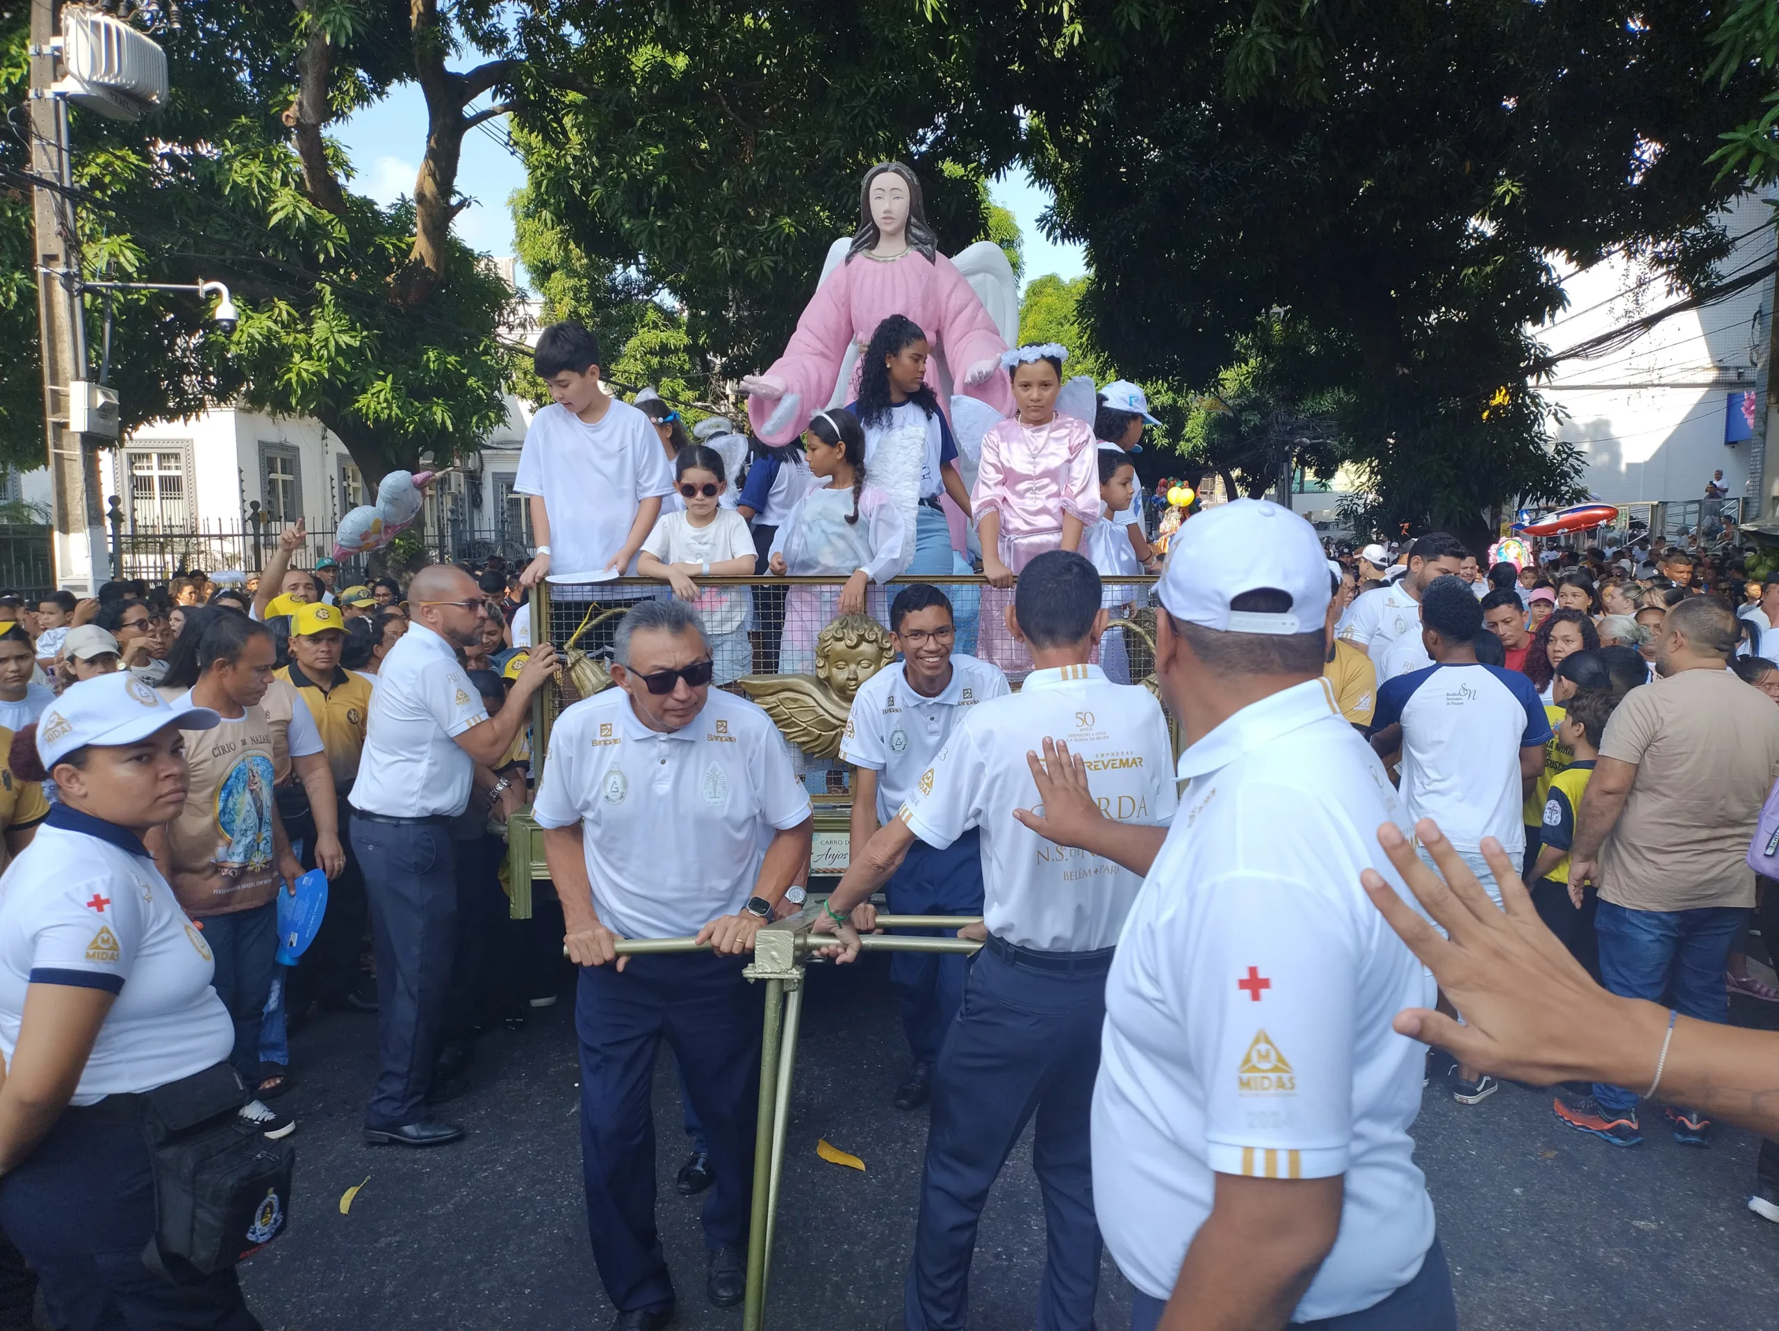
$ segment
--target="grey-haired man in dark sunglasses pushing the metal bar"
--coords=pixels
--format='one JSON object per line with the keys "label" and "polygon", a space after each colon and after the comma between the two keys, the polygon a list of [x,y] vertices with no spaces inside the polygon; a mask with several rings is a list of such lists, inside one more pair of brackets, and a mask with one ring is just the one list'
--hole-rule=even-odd
{"label": "grey-haired man in dark sunglasses pushing the metal bar", "polygon": [[[809,795],[767,714],[713,690],[710,642],[685,601],[642,601],[612,639],[616,689],[566,710],[532,817],[582,966],[580,1150],[587,1230],[621,1331],[672,1320],[655,1228],[649,1109],[662,1037],[710,1148],[704,1292],[747,1283],[760,1094],[754,934],[809,859]],[[507,705],[512,710],[512,705]],[[619,938],[696,934],[710,952],[619,957]]]}

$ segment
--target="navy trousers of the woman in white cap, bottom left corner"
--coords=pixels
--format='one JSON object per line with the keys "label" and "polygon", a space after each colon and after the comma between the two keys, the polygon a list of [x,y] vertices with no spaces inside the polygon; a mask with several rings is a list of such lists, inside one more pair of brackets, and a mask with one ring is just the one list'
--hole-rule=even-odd
{"label": "navy trousers of the woman in white cap, bottom left corner", "polygon": [[174,1285],[142,1265],[155,1237],[155,1178],[133,1123],[57,1119],[0,1180],[0,1226],[37,1272],[57,1327],[260,1331],[233,1267]]}

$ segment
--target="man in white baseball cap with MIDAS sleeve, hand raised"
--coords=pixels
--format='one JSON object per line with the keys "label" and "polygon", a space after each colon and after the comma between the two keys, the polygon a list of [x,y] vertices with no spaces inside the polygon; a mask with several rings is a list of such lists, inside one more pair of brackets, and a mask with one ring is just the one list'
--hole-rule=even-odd
{"label": "man in white baseball cap with MIDAS sleeve, hand raised", "polygon": [[1377,827],[1407,819],[1320,678],[1329,571],[1308,521],[1236,500],[1179,528],[1155,667],[1188,783],[1169,829],[1114,824],[1085,767],[1034,754],[1051,842],[1146,874],[1107,984],[1094,1201],[1133,1331],[1338,1319],[1453,1331],[1409,1125],[1421,966],[1368,918]]}

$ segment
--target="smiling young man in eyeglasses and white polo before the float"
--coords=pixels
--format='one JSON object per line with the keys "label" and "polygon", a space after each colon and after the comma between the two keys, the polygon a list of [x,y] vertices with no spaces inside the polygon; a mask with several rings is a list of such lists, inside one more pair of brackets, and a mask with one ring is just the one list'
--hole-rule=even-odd
{"label": "smiling young man in eyeglasses and white polo before the float", "polygon": [[[840,756],[852,763],[850,858],[914,795],[970,708],[1009,692],[998,666],[952,651],[957,630],[952,603],[938,587],[916,582],[890,605],[902,660],[877,671],[852,699]],[[975,827],[946,849],[913,842],[907,859],[884,886],[895,915],[982,915],[982,845]],[[902,932],[938,934],[938,929]],[[902,1011],[913,1066],[895,1093],[897,1109],[920,1109],[932,1096],[939,1039],[964,996],[966,959],[957,954],[891,952],[890,988]]]}

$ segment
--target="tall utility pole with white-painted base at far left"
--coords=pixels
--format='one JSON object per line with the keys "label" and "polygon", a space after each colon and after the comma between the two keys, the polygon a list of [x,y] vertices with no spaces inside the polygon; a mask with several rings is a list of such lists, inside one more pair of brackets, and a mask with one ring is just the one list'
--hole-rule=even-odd
{"label": "tall utility pole with white-painted base at far left", "polygon": [[30,5],[30,165],[41,182],[37,224],[37,327],[43,342],[43,420],[53,505],[53,561],[59,587],[94,593],[110,561],[100,512],[98,452],[69,425],[71,384],[87,377],[87,338],[80,297],[80,244],[75,233],[68,101],[55,96],[55,41],[60,0]]}

